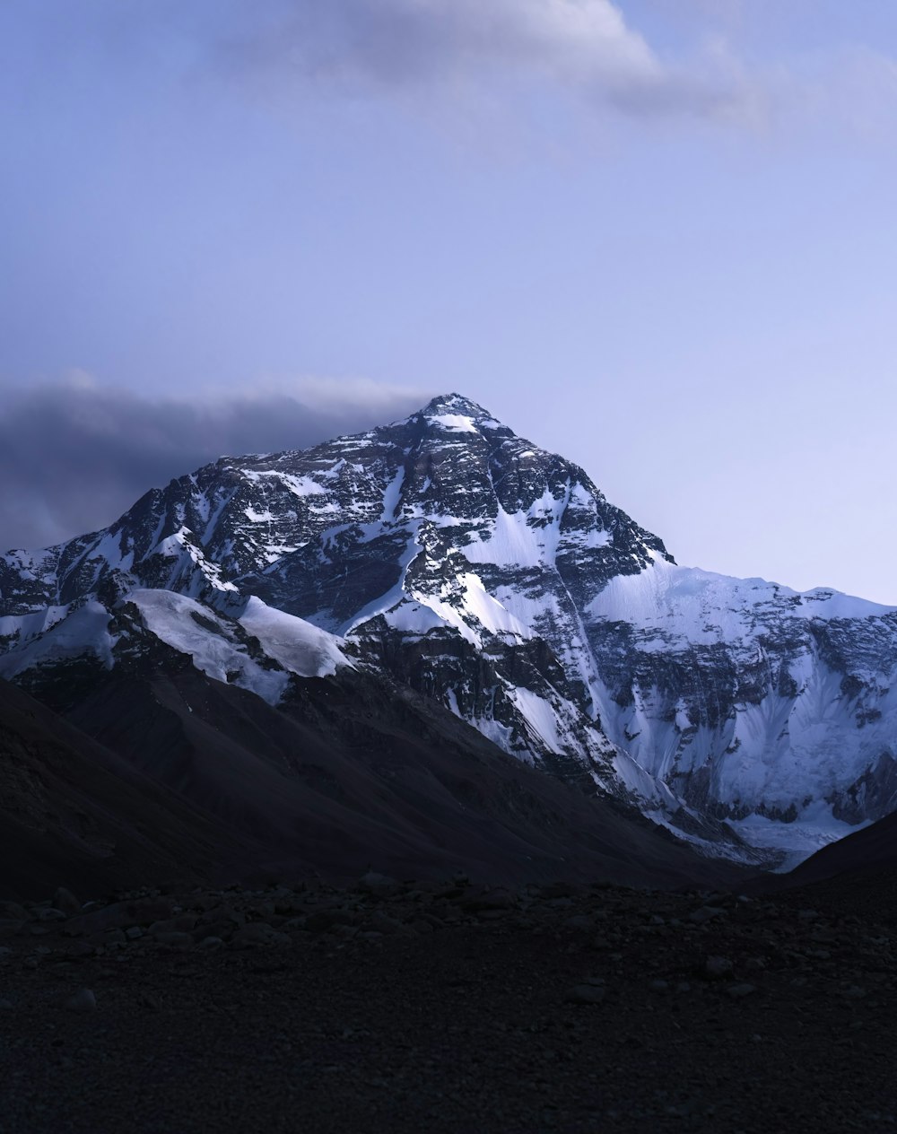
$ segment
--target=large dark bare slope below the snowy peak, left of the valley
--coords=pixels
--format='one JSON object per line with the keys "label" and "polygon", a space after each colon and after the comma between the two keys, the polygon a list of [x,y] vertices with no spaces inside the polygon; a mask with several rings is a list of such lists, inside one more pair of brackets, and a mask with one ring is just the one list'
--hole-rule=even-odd
{"label": "large dark bare slope below the snowy peak, left of the valley", "polygon": [[172,873],[345,879],[370,864],[493,882],[742,874],[375,676],[297,679],[273,709],[169,661],[105,675],[69,720],[0,685],[0,892]]}

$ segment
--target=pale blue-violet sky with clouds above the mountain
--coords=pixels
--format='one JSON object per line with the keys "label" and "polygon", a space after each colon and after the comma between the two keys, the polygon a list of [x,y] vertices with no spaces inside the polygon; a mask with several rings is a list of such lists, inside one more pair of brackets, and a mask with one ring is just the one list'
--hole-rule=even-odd
{"label": "pale blue-violet sky with clouds above the mountain", "polygon": [[0,6],[0,547],[458,391],[897,604],[897,9]]}

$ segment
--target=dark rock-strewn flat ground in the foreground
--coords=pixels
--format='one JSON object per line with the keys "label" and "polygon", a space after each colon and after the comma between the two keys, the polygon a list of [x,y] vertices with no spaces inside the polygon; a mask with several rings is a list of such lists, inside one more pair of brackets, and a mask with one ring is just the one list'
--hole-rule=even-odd
{"label": "dark rock-strewn flat ground in the foreground", "polygon": [[891,907],[815,897],[0,904],[0,1131],[897,1131]]}

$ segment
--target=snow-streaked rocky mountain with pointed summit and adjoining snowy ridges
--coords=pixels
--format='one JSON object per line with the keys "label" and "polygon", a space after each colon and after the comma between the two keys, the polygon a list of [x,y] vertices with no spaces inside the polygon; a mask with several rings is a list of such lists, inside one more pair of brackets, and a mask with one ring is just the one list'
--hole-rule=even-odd
{"label": "snow-streaked rocky mountain with pointed summit and adjoining snowy ridges", "polygon": [[711,853],[794,861],[897,807],[897,610],[678,567],[458,395],[0,558],[0,676],[154,642],[272,704],[290,675],[383,670]]}

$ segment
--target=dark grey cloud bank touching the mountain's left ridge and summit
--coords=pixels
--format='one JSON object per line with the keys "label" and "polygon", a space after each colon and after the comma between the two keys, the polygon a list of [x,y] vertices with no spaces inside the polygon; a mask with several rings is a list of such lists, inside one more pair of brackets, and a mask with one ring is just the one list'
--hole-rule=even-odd
{"label": "dark grey cloud bank touching the mountain's left ridge and summit", "polygon": [[147,489],[225,454],[306,448],[404,417],[432,392],[305,379],[252,392],[150,399],[83,373],[6,391],[0,549],[45,547],[95,531]]}

